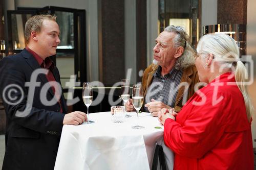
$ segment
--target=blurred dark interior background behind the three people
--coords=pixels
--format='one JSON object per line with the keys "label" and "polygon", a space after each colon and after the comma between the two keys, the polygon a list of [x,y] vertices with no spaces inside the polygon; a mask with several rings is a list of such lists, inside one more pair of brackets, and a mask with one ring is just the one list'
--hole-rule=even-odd
{"label": "blurred dark interior background behind the three people", "polygon": [[[141,81],[143,70],[153,61],[154,40],[169,25],[184,27],[195,48],[204,34],[228,34],[237,41],[241,56],[255,61],[255,6],[254,0],[0,0],[0,60],[26,46],[24,26],[29,17],[55,14],[61,43],[52,60],[60,71],[63,92],[67,97],[66,82],[72,75],[81,83],[100,81],[105,88],[95,87],[94,99],[100,93],[103,100],[91,106],[90,113],[110,111],[109,97],[116,105],[121,104],[120,90],[110,87],[130,74],[131,85]],[[250,69],[253,78],[256,69]],[[248,88],[256,108],[256,82]],[[109,96],[111,90],[114,93]],[[74,91],[80,102],[69,110],[85,112],[81,84]],[[1,134],[5,120],[0,101]],[[252,122],[252,137],[256,148],[256,121]]]}

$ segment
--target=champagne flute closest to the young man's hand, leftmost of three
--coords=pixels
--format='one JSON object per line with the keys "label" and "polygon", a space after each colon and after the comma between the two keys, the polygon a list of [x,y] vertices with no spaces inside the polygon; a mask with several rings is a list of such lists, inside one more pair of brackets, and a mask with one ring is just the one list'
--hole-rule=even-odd
{"label": "champagne flute closest to the young man's hand, leftmost of three", "polygon": [[82,84],[82,100],[83,100],[84,105],[86,105],[86,107],[87,107],[88,120],[85,123],[92,124],[92,123],[94,123],[94,121],[89,119],[89,107],[93,101],[93,88],[91,86],[91,83],[86,82],[86,83]]}

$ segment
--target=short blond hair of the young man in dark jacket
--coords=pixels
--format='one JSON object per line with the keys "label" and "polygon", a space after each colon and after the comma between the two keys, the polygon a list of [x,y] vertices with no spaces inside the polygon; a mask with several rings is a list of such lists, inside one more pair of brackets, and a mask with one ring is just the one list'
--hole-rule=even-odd
{"label": "short blond hair of the young man in dark jacket", "polygon": [[56,21],[55,15],[34,15],[31,18],[29,18],[25,24],[25,39],[26,43],[29,42],[30,34],[32,31],[35,31],[36,33],[41,32],[42,28],[42,21],[45,19]]}

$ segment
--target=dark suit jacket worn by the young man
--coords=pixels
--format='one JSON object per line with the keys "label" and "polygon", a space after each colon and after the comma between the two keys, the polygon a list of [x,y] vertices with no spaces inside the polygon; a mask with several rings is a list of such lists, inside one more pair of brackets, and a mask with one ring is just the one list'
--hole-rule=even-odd
{"label": "dark suit jacket worn by the young man", "polygon": [[[46,75],[39,74],[36,78],[40,85],[35,87],[33,92],[33,104],[29,114],[25,117],[15,114],[17,110],[23,111],[27,106],[29,88],[25,86],[25,82],[30,82],[32,72],[37,68],[40,68],[39,64],[26,49],[0,61],[0,92],[7,115],[3,169],[54,168],[65,114],[59,112],[60,106],[57,100],[52,106],[46,106],[40,100],[41,89],[48,82]],[[53,75],[60,83],[59,71],[55,66]],[[11,91],[10,96],[8,96],[8,90],[6,90],[6,95],[3,94],[4,89],[13,84],[21,88]],[[43,94],[48,101],[53,99],[51,88]],[[7,103],[10,97],[12,104]],[[16,104],[13,104],[15,102]],[[66,113],[67,106],[63,94],[61,103],[63,112]]]}

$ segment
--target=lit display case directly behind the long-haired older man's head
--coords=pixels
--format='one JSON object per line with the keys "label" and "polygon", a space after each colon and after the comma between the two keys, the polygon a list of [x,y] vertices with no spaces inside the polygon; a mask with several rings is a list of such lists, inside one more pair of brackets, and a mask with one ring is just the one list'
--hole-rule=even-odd
{"label": "lit display case directly behind the long-haired older man's head", "polygon": [[201,35],[201,0],[158,0],[158,33],[170,25],[185,28],[195,47]]}

